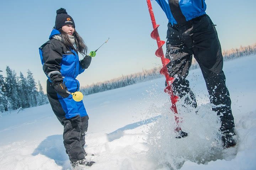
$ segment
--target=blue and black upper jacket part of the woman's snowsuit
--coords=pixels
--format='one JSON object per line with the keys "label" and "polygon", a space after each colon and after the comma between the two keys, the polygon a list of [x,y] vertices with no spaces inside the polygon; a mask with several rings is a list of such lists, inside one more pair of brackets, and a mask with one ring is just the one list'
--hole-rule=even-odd
{"label": "blue and black upper jacket part of the woman's snowsuit", "polygon": [[39,48],[43,70],[50,82],[56,75],[75,79],[85,70],[82,68],[75,50],[66,48],[61,41],[52,38],[57,34],[60,32],[53,29],[49,37],[50,40]]}

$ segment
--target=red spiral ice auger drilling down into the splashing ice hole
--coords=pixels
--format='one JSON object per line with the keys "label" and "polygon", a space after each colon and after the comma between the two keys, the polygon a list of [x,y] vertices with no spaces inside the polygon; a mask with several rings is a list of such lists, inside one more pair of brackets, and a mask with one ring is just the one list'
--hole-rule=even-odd
{"label": "red spiral ice auger drilling down into the splashing ice hole", "polygon": [[[153,12],[150,0],[147,0],[147,4],[148,4],[150,18],[151,18],[152,25],[153,25],[153,31],[151,32],[151,38],[156,40],[157,45],[158,45],[158,49],[156,50],[155,55],[161,58],[163,67],[160,70],[160,74],[165,76],[166,82],[167,82],[167,86],[164,91],[170,95],[171,103],[172,103],[171,111],[174,112],[174,114],[178,114],[177,107],[176,107],[176,102],[178,101],[178,96],[174,95],[173,91],[172,91],[172,83],[174,82],[174,77],[170,77],[167,67],[166,67],[166,65],[170,62],[170,60],[168,58],[165,58],[164,52],[162,50],[162,46],[165,44],[165,41],[160,40],[159,33],[158,33],[159,25],[156,24],[154,12]],[[175,117],[175,121],[176,121],[175,131],[179,135],[176,138],[186,137],[187,133],[183,132],[179,126],[179,117],[177,115],[174,115],[174,117]]]}

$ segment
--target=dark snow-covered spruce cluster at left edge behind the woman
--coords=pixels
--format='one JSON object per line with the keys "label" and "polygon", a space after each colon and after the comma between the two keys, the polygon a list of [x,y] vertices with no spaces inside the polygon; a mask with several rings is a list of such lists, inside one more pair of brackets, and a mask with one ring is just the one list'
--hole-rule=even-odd
{"label": "dark snow-covered spruce cluster at left edge behind the woman", "polygon": [[30,70],[27,71],[27,77],[21,72],[17,77],[9,66],[6,67],[6,77],[1,72],[0,70],[0,112],[48,103],[40,81],[35,82]]}

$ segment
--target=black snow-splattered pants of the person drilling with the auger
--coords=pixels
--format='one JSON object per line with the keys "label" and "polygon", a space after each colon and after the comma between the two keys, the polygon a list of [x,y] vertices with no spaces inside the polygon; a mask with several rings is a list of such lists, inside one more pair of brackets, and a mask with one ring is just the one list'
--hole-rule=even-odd
{"label": "black snow-splattered pants of the person drilling with the auger", "polygon": [[213,111],[220,115],[221,131],[234,127],[234,117],[231,112],[231,100],[225,84],[223,72],[223,56],[217,31],[208,15],[202,15],[184,24],[168,24],[166,58],[171,61],[167,65],[174,93],[182,98],[190,96],[185,103],[197,107],[196,99],[185,78],[192,62],[192,55],[198,62],[214,105]]}

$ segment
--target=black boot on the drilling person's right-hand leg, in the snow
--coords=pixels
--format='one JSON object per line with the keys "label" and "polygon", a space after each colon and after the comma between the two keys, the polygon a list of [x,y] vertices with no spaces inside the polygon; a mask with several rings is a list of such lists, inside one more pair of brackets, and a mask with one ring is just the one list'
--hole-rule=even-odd
{"label": "black boot on the drilling person's right-hand leg, in the snow", "polygon": [[223,148],[234,147],[236,145],[234,136],[234,129],[228,129],[222,132],[222,144]]}

